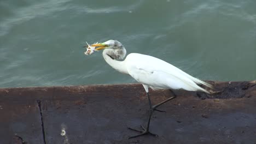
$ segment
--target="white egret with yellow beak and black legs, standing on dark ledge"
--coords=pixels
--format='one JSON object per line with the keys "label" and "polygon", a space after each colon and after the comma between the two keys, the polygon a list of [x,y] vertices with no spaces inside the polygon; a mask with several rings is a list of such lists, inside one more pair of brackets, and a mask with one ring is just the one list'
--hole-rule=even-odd
{"label": "white egret with yellow beak and black legs, standing on dark ledge", "polygon": [[[116,59],[123,59],[126,55],[125,47],[117,40],[108,40],[104,43],[92,44],[91,46],[97,47],[95,49],[96,51],[104,49],[102,55],[105,61],[120,73],[128,74],[139,83],[142,83],[147,93],[150,110],[147,127],[144,128],[141,126],[143,130],[129,128],[131,130],[141,132],[141,134],[132,136],[130,138],[146,134],[157,136],[149,131],[150,119],[153,111],[160,111],[156,109],[158,106],[176,98],[176,94],[173,93],[171,89],[185,89],[187,91],[202,91],[209,93],[206,91],[206,89],[203,89],[198,85],[211,88],[210,84],[196,79],[181,69],[174,67],[172,64],[152,56],[142,55],[139,53],[130,53],[127,55],[124,61],[117,61]],[[149,87],[153,90],[170,89],[173,97],[152,106],[148,93]]]}

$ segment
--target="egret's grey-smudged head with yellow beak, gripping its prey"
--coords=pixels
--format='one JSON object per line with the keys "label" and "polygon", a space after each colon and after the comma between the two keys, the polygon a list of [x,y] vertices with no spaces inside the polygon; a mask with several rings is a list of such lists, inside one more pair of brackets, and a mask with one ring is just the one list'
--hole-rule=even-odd
{"label": "egret's grey-smudged head with yellow beak, gripping its prey", "polygon": [[96,47],[96,51],[109,49],[107,55],[112,59],[123,59],[126,55],[125,47],[118,40],[108,40],[104,43],[92,44]]}

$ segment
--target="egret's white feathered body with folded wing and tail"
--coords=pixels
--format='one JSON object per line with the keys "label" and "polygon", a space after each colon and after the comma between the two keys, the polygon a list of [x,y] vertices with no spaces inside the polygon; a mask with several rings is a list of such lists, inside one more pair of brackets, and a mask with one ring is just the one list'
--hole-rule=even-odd
{"label": "egret's white feathered body with folded wing and tail", "polygon": [[155,88],[183,88],[188,91],[205,91],[205,89],[197,86],[196,83],[210,86],[208,83],[190,76],[170,63],[152,56],[131,53],[126,57],[125,62],[127,71],[134,79]]}

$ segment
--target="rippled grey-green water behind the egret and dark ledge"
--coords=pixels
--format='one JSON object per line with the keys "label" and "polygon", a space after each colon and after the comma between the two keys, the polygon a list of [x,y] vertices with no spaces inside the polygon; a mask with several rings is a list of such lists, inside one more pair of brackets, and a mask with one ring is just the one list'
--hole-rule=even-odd
{"label": "rippled grey-green water behind the egret and dark ledge", "polygon": [[135,82],[85,41],[117,39],[202,80],[256,79],[256,1],[1,1],[0,87]]}

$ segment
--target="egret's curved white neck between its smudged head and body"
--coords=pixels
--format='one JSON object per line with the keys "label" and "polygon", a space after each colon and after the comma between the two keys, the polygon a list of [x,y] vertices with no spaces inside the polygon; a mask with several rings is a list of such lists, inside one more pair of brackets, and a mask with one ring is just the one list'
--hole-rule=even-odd
{"label": "egret's curved white neck between its smudged head and body", "polygon": [[120,73],[123,74],[129,74],[127,69],[126,69],[126,64],[125,61],[117,61],[115,59],[112,59],[109,55],[108,52],[111,52],[111,49],[106,49],[102,52],[103,58],[105,61],[115,70],[119,71]]}

